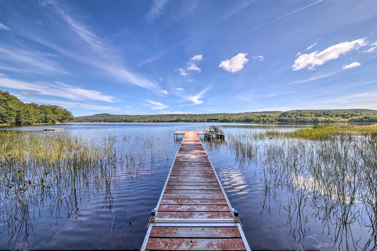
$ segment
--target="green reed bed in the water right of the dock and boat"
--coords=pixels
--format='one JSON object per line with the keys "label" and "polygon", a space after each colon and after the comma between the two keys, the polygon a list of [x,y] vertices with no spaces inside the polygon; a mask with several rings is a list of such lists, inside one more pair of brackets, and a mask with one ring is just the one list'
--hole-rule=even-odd
{"label": "green reed bed in the water right of the dock and boat", "polygon": [[[315,126],[294,132],[236,133],[228,136],[228,146],[240,164],[259,166],[263,205],[270,196],[287,211],[295,240],[299,236],[303,243],[310,229],[303,213],[307,211],[322,222],[329,242],[339,249],[375,250],[376,129]],[[360,227],[368,228],[369,236],[354,237],[352,230]]]}

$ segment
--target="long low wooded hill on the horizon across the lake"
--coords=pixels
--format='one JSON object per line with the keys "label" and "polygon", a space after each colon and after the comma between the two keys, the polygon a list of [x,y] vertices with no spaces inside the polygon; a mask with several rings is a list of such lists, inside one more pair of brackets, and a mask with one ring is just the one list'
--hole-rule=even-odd
{"label": "long low wooded hill on the horizon across the lake", "polygon": [[114,115],[95,114],[75,117],[73,122],[203,122],[218,118],[220,122],[356,122],[377,123],[377,110],[291,110],[248,113]]}

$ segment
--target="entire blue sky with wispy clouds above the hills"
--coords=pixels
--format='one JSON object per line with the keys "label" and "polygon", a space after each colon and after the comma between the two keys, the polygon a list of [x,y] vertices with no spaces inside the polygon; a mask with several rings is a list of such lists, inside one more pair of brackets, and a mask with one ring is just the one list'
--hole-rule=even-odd
{"label": "entire blue sky with wispy clouds above the hills", "polygon": [[0,0],[0,89],[74,116],[377,109],[375,0]]}

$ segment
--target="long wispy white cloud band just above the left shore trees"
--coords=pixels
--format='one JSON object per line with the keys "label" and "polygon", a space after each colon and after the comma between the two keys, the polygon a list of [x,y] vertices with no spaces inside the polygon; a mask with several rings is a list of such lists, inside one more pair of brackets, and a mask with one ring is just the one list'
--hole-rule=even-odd
{"label": "long wispy white cloud band just above the left shore trees", "polygon": [[62,97],[71,100],[100,100],[106,102],[118,102],[115,97],[104,95],[99,91],[87,90],[61,82],[55,82],[54,84],[32,84],[0,75],[0,87],[28,91],[43,96]]}

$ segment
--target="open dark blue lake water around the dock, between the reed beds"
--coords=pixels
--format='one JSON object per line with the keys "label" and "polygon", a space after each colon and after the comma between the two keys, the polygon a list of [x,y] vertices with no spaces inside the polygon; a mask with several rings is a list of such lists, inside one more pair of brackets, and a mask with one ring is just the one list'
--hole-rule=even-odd
{"label": "open dark blue lake water around the dock, between the reed beds", "polygon": [[[222,124],[227,134],[265,129],[295,130],[308,124]],[[0,129],[32,131],[37,134],[80,134],[100,142],[115,135],[116,145],[129,154],[143,155],[136,173],[119,173],[118,182],[110,191],[75,190],[59,206],[51,195],[29,208],[27,219],[18,226],[7,225],[1,209],[6,198],[0,198],[0,249],[126,249],[141,248],[153,209],[162,192],[182,135],[175,140],[175,131],[203,130],[204,123],[69,123],[53,125],[64,131],[43,131],[46,126],[8,126]],[[370,229],[355,224],[345,227],[326,224],[305,203],[291,210],[289,191],[274,196],[263,192],[259,167],[247,161],[240,163],[226,142],[204,140],[202,143],[215,167],[231,205],[239,211],[250,248],[263,250],[362,250]],[[227,141],[227,137],[225,138]],[[3,193],[1,193],[3,196]],[[9,231],[17,229],[16,235]],[[337,236],[338,235],[338,236]],[[340,237],[339,237],[340,235]]]}

